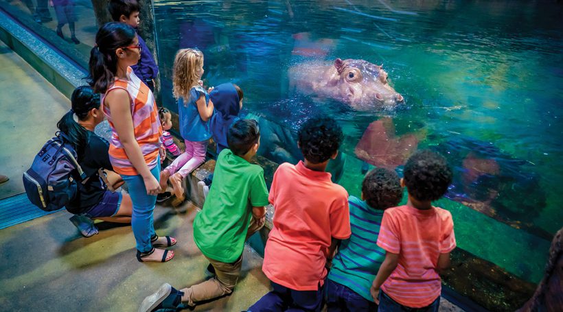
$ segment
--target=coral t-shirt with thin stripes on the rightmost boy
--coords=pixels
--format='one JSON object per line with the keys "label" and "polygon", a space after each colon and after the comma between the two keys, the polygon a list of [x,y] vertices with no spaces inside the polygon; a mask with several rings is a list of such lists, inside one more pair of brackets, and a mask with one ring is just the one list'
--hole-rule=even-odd
{"label": "coral t-shirt with thin stripes on the rightmost boy", "polygon": [[382,291],[406,307],[426,307],[440,296],[438,256],[455,248],[452,215],[437,207],[389,208],[383,214],[378,246],[399,254],[397,268]]}

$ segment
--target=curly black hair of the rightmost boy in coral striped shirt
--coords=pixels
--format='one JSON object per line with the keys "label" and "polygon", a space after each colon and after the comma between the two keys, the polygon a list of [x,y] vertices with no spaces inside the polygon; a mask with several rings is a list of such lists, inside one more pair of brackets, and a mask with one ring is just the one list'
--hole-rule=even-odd
{"label": "curly black hair of the rightmost boy in coral striped shirt", "polygon": [[423,202],[444,196],[453,176],[446,158],[429,149],[422,149],[406,160],[403,173],[406,190]]}

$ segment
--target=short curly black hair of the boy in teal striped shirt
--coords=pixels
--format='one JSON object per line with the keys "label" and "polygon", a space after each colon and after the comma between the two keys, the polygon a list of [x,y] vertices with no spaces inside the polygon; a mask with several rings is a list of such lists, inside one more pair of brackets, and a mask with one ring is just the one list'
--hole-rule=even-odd
{"label": "short curly black hair of the boy in teal striped shirt", "polygon": [[395,171],[376,168],[369,171],[362,182],[364,200],[371,208],[385,210],[401,201],[401,180]]}

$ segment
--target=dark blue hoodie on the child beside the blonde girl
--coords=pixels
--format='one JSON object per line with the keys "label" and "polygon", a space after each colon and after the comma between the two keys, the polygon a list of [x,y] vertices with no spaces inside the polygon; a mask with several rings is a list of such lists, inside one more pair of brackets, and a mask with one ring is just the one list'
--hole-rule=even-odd
{"label": "dark blue hoodie on the child beside the blonde girl", "polygon": [[209,97],[215,106],[215,114],[209,121],[209,130],[213,141],[217,143],[217,154],[222,149],[228,148],[227,131],[229,127],[237,121],[240,112],[240,99],[235,86],[231,83],[216,86]]}

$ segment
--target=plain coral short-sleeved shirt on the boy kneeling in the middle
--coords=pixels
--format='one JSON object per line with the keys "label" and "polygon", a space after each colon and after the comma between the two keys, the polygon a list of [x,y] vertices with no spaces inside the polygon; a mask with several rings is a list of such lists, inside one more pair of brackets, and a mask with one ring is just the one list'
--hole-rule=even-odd
{"label": "plain coral short-sleeved shirt on the boy kneeling in the middle", "polygon": [[264,250],[264,274],[294,290],[323,285],[331,237],[347,239],[350,231],[348,193],[332,183],[330,173],[299,162],[284,163],[274,174],[269,202],[274,227]]}

